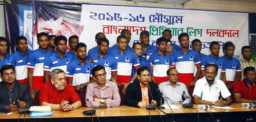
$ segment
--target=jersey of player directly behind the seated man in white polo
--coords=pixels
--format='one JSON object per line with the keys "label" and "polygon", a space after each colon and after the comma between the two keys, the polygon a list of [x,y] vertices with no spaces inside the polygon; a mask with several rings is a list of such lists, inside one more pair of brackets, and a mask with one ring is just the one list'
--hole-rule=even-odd
{"label": "jersey of player directly behind the seated man in white polo", "polygon": [[220,57],[215,58],[211,54],[207,55],[205,58],[202,59],[201,70],[204,71],[205,66],[209,63],[215,64],[218,66],[218,74],[217,74],[217,77],[215,77],[215,79],[221,80],[221,73],[226,72],[224,62],[220,60]]}

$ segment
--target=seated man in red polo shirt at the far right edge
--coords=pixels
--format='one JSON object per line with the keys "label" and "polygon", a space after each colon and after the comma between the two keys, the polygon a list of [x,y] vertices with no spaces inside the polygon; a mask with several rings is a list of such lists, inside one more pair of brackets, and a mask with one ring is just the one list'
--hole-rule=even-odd
{"label": "seated man in red polo shirt at the far right edge", "polygon": [[244,69],[244,80],[236,82],[233,96],[237,103],[256,103],[256,71],[254,67]]}

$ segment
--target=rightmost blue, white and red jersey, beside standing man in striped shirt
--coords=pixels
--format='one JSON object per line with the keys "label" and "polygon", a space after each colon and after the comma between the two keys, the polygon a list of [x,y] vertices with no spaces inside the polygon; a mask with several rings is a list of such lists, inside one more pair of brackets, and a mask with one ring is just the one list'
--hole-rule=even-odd
{"label": "rightmost blue, white and red jersey, beside standing man in striped shirt", "polygon": [[236,72],[241,72],[240,61],[233,57],[228,59],[225,55],[220,57],[220,60],[224,62],[226,68],[226,84],[232,84],[235,80]]}

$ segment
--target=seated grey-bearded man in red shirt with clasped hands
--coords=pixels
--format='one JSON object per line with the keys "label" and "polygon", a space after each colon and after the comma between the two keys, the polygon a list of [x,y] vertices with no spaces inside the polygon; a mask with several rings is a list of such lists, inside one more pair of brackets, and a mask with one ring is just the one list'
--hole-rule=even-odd
{"label": "seated grey-bearded man in red shirt with clasped hands", "polygon": [[60,69],[51,71],[50,82],[45,83],[39,93],[39,102],[42,106],[60,111],[78,109],[82,104],[74,87],[67,84],[65,72]]}

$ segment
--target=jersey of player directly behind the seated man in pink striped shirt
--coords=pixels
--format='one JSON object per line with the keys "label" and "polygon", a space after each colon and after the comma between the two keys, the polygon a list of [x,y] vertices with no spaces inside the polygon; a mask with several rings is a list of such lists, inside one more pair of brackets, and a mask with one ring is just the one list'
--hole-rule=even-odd
{"label": "jersey of player directly behind the seated man in pink striped shirt", "polygon": [[93,59],[95,66],[97,65],[102,65],[105,67],[105,71],[107,73],[106,78],[108,80],[111,79],[111,74],[112,72],[117,72],[118,71],[118,62],[117,60],[107,53],[104,57],[100,58],[98,53],[94,53],[91,55],[90,59]]}

